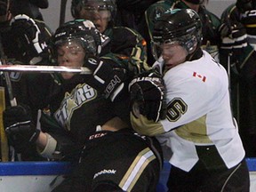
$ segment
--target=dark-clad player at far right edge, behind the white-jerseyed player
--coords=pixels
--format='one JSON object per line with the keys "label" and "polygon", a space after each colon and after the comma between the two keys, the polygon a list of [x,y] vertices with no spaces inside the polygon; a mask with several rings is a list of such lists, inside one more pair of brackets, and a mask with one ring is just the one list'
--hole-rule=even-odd
{"label": "dark-clad player at far right edge, behind the white-jerseyed player", "polygon": [[220,63],[229,71],[231,102],[247,157],[256,156],[256,3],[237,0],[222,13]]}

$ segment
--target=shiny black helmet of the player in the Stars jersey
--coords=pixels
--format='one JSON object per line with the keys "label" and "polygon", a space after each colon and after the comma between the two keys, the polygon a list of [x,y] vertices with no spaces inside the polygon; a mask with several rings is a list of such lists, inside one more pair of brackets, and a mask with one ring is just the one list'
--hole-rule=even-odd
{"label": "shiny black helmet of the player in the Stars jersey", "polygon": [[98,55],[101,52],[101,34],[91,20],[68,21],[57,28],[52,36],[53,47],[72,40],[79,42],[90,54]]}

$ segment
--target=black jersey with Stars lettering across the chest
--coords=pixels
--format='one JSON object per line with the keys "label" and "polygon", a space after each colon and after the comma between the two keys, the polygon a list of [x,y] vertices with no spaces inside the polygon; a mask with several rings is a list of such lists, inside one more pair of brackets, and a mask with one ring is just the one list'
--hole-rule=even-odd
{"label": "black jersey with Stars lettering across the chest", "polygon": [[[118,58],[114,54],[108,54],[101,57],[101,60],[108,64],[115,62],[117,65],[124,65],[124,68],[135,68],[133,64],[128,64],[129,60]],[[136,70],[140,69],[132,70],[131,78]],[[41,129],[57,140],[56,151],[62,153],[62,157],[72,157],[76,151],[74,148],[82,148],[88,135],[115,116],[130,124],[128,87],[126,86],[127,92],[122,100],[112,102],[86,84],[88,78],[90,77],[76,75],[64,80],[60,75],[54,75],[52,84],[47,89],[48,94],[44,97],[46,108],[41,117]],[[128,77],[126,84],[130,80]]]}

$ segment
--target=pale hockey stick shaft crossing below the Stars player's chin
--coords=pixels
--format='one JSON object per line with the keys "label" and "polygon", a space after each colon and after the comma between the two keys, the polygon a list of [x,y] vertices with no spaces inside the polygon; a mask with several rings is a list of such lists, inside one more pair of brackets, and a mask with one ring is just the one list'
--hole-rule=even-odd
{"label": "pale hockey stick shaft crossing below the Stars player's chin", "polygon": [[64,66],[36,66],[36,65],[0,65],[0,71],[16,71],[23,73],[79,73],[90,75],[92,71],[85,67],[64,67]]}

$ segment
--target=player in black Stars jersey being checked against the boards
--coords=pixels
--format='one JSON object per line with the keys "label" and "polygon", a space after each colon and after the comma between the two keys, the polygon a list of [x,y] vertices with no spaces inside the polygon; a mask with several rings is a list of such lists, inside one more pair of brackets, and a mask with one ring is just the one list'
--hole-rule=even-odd
{"label": "player in black Stars jersey being checked against the boards", "polygon": [[79,157],[79,164],[54,192],[156,190],[161,149],[154,138],[133,132],[129,121],[125,82],[141,68],[120,55],[99,57],[106,41],[89,20],[70,21],[56,30],[52,44],[58,65],[85,66],[92,75],[54,75],[41,116],[42,131],[26,106],[4,111],[5,131],[20,152],[36,144],[50,159],[76,162]]}

